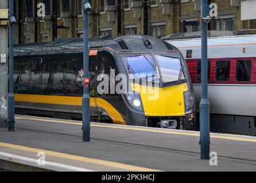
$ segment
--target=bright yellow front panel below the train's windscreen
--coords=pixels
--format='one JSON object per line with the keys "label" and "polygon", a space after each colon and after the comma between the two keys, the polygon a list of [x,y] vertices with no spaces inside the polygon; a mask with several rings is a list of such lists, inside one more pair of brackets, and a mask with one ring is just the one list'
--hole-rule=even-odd
{"label": "bright yellow front panel below the train's windscreen", "polygon": [[133,90],[141,94],[146,116],[185,116],[183,92],[187,83],[170,87],[150,87],[131,83]]}

